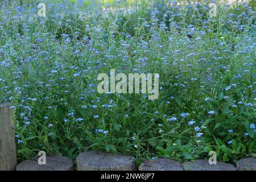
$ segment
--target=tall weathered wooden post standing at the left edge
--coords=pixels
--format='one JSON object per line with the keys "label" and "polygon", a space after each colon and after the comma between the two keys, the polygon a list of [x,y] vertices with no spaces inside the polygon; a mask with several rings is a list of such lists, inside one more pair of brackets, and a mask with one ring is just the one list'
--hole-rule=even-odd
{"label": "tall weathered wooden post standing at the left edge", "polygon": [[0,104],[0,171],[16,169],[14,112],[7,104]]}

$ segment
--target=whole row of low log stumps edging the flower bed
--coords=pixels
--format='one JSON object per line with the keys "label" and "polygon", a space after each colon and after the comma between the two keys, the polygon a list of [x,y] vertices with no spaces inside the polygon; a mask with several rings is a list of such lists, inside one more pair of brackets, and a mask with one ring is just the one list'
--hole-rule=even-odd
{"label": "whole row of low log stumps edging the flower bed", "polygon": [[[88,151],[77,156],[77,171],[135,171],[133,156]],[[72,159],[64,156],[47,156],[47,164],[38,164],[38,156],[24,160],[17,171],[73,171]],[[160,158],[148,160],[139,166],[139,171],[256,171],[256,159],[244,158],[233,164],[217,162],[210,165],[207,159],[185,162],[182,165],[174,160]]]}

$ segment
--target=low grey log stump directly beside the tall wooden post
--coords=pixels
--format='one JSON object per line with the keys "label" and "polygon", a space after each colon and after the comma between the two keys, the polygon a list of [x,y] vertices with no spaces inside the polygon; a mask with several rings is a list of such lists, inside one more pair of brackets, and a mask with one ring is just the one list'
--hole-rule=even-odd
{"label": "low grey log stump directly beside the tall wooden post", "polygon": [[35,157],[18,164],[17,171],[73,171],[73,161],[64,156],[46,156],[46,165],[40,165]]}

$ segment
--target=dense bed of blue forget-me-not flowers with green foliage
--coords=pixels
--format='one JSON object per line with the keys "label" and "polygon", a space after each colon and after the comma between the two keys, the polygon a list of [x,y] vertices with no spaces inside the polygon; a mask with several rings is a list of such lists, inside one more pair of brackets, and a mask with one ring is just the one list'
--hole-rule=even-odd
{"label": "dense bed of blue forget-me-not flowers with green foliage", "polygon": [[[19,159],[86,150],[144,159],[255,155],[255,1],[9,1],[0,10],[0,102],[15,109]],[[125,7],[125,9],[122,9]],[[157,100],[99,94],[97,76],[159,73]]]}

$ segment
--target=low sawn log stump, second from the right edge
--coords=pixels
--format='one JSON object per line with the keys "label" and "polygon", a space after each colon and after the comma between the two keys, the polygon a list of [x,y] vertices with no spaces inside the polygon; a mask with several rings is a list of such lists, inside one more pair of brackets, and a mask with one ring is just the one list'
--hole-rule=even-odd
{"label": "low sawn log stump, second from the right edge", "polygon": [[185,162],[182,166],[185,171],[237,171],[237,168],[232,164],[217,162],[217,164],[210,165],[208,160]]}

